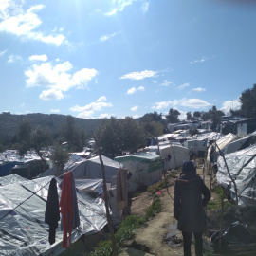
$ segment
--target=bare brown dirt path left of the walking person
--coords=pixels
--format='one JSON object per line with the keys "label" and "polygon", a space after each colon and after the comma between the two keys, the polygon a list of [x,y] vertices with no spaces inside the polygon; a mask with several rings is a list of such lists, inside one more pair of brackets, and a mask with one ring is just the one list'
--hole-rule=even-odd
{"label": "bare brown dirt path left of the walking person", "polygon": [[[202,166],[199,166],[197,173],[202,173]],[[128,242],[129,247],[138,249],[137,254],[134,251],[131,253],[126,251],[120,255],[142,256],[146,255],[145,252],[155,256],[183,255],[182,235],[176,229],[177,222],[173,212],[174,181],[175,178],[169,178],[168,190],[164,189],[160,194],[161,212],[149,220],[146,227],[137,229],[136,238]],[[133,198],[131,213],[143,216],[152,201],[153,195],[150,192],[141,192],[136,198]],[[171,246],[168,245],[168,242]]]}

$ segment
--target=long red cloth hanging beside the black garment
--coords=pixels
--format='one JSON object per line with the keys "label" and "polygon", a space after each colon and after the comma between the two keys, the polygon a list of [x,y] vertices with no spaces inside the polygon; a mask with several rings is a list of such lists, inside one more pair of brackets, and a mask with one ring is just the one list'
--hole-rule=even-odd
{"label": "long red cloth hanging beside the black garment", "polygon": [[64,174],[64,180],[62,183],[62,194],[60,199],[60,212],[63,214],[63,226],[64,226],[64,237],[63,247],[67,247],[67,232],[69,232],[69,245],[71,247],[71,231],[72,231],[72,181],[71,172]]}

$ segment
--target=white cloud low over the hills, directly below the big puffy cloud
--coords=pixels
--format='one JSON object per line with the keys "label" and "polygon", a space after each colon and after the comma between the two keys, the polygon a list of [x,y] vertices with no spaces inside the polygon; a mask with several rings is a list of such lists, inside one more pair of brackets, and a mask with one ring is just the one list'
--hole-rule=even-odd
{"label": "white cloud low over the hills, directly below the big puffy cloud", "polygon": [[91,102],[85,106],[76,105],[76,106],[70,107],[69,109],[74,112],[80,112],[78,115],[78,118],[83,118],[83,119],[86,118],[87,119],[87,118],[92,117],[95,112],[101,111],[105,107],[113,106],[113,104],[111,102],[104,102],[106,100],[107,99],[105,96],[101,96],[95,102]]}

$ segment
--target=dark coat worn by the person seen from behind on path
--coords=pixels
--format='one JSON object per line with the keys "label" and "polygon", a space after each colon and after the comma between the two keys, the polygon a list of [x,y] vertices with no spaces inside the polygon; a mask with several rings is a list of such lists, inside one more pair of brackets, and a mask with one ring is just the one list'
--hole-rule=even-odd
{"label": "dark coat worn by the person seen from behind on path", "polygon": [[[203,197],[202,197],[203,195]],[[174,217],[177,229],[183,232],[203,232],[207,229],[204,207],[210,190],[199,175],[192,179],[177,179],[174,187]]]}

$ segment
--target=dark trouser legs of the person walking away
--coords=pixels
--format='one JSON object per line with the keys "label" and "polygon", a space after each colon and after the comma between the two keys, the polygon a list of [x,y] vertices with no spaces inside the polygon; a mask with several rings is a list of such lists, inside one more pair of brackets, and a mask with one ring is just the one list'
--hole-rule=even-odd
{"label": "dark trouser legs of the person walking away", "polygon": [[[182,232],[184,256],[192,255],[192,233]],[[203,233],[193,233],[195,242],[195,255],[203,256]]]}

